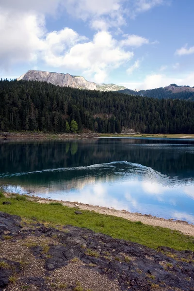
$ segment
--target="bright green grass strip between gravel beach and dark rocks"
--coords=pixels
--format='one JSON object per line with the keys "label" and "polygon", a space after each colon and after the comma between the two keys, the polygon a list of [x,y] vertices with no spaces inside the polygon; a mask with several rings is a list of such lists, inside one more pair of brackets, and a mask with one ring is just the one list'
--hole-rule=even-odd
{"label": "bright green grass strip between gravel beach and dark rocks", "polygon": [[[41,204],[31,201],[22,201],[7,198],[11,205],[2,205],[0,198],[0,211],[19,215],[27,221],[36,219],[49,226],[72,225],[86,227],[112,236],[113,238],[138,242],[157,249],[159,246],[168,246],[176,250],[194,251],[194,237],[186,236],[176,230],[159,226],[148,226],[115,217],[81,210],[82,215],[76,215],[75,208],[58,205]],[[104,227],[102,227],[102,225]],[[184,226],[183,226],[184,227]],[[87,251],[87,250],[86,250]]]}

